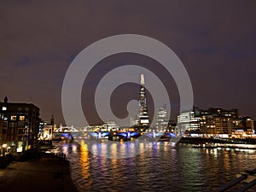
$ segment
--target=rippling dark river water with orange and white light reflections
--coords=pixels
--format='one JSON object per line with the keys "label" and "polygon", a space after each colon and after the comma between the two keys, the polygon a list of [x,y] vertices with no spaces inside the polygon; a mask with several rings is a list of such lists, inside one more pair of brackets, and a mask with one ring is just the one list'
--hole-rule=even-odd
{"label": "rippling dark river water with orange and white light reflections", "polygon": [[[256,168],[255,150],[155,143],[134,157],[111,159],[90,153],[84,140],[78,143],[59,143],[54,152],[67,154],[79,191],[212,191],[235,179],[236,173]],[[94,147],[104,150],[100,143]]]}

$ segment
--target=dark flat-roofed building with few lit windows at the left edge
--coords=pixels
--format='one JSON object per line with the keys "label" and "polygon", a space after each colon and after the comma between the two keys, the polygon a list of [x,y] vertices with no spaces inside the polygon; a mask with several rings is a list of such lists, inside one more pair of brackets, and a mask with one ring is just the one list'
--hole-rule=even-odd
{"label": "dark flat-roofed building with few lit windows at the left edge", "polygon": [[2,116],[1,142],[6,143],[11,152],[22,152],[31,148],[38,139],[39,108],[31,103],[0,102]]}

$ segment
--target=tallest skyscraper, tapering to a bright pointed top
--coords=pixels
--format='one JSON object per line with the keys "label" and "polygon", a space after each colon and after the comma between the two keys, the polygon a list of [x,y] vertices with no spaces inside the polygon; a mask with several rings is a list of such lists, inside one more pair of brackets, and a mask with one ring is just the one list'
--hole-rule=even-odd
{"label": "tallest skyscraper, tapering to a bright pointed top", "polygon": [[148,126],[149,126],[148,106],[147,106],[146,91],[145,91],[144,84],[145,84],[144,75],[141,74],[138,124],[139,124],[140,127],[143,127],[143,130],[147,129]]}

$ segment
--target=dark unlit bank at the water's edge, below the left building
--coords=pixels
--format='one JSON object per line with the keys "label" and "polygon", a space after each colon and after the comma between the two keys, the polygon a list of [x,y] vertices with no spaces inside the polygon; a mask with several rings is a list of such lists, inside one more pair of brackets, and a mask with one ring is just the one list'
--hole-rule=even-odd
{"label": "dark unlit bank at the water's edge, below the left building", "polygon": [[53,154],[40,154],[23,162],[13,161],[0,169],[1,191],[76,192],[69,162]]}

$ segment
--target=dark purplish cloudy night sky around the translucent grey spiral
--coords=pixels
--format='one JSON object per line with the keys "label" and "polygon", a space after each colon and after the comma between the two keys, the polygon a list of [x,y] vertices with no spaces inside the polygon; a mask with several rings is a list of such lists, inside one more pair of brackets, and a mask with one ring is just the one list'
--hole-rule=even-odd
{"label": "dark purplish cloudy night sky around the translucent grey spiral", "polygon": [[[0,25],[1,102],[4,96],[9,102],[32,102],[40,108],[42,119],[54,114],[57,125],[65,125],[61,87],[70,63],[88,45],[118,34],[140,34],[169,46],[189,73],[195,106],[238,108],[241,115],[256,119],[253,0],[8,0],[1,1]],[[101,62],[108,65],[96,67],[96,77],[102,77],[114,63],[141,62],[152,67],[154,61],[124,54]],[[173,79],[168,82],[175,119],[178,92]],[[90,85],[84,84],[83,108]],[[124,85],[127,93],[137,94],[131,88]],[[97,124],[99,119],[92,117],[91,122]]]}

